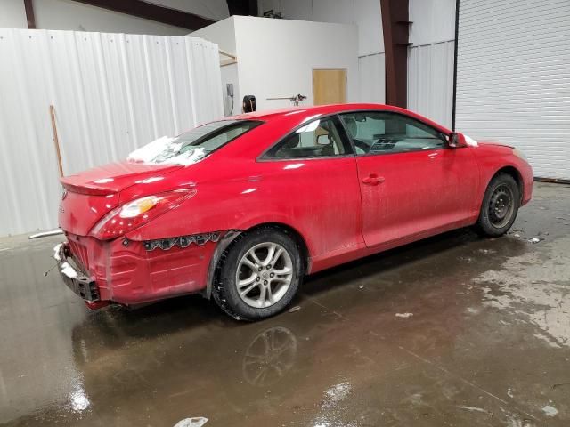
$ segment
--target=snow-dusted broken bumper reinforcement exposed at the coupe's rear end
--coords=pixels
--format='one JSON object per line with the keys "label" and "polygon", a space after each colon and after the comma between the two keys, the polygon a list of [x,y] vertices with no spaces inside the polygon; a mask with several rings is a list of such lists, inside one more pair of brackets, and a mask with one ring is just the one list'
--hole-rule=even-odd
{"label": "snow-dusted broken bumper reinforcement exposed at the coupe's rear end", "polygon": [[99,288],[94,279],[78,267],[78,262],[71,255],[66,243],[60,243],[53,248],[53,258],[57,261],[63,283],[74,294],[79,295],[90,309],[98,309],[109,304],[101,301]]}

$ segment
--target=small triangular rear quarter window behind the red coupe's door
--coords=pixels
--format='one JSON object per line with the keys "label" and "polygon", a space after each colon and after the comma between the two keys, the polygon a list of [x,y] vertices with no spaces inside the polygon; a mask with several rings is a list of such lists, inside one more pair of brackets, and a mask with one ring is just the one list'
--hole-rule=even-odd
{"label": "small triangular rear quarter window behind the red coupe's door", "polygon": [[270,149],[266,157],[331,157],[351,154],[350,146],[341,137],[338,119],[316,119],[299,127]]}

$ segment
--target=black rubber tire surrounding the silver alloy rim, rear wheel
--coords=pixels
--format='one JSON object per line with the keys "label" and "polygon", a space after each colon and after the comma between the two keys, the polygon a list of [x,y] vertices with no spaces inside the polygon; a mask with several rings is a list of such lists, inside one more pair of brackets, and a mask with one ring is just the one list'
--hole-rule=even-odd
{"label": "black rubber tire surrounding the silver alloy rim, rear wheel", "polygon": [[[289,287],[281,291],[284,294],[282,294],[280,299],[274,302],[273,305],[252,307],[238,292],[238,278],[241,274],[238,268],[240,268],[240,271],[243,271],[244,267],[240,267],[242,258],[248,254],[252,248],[260,245],[263,246],[264,244],[281,246],[281,248],[289,254],[288,262],[292,264],[290,266],[290,270],[292,270],[291,278]],[[263,250],[263,247],[261,250]],[[214,286],[212,286],[212,296],[222,310],[237,320],[260,320],[262,318],[272,317],[285,309],[297,293],[297,288],[302,279],[302,265],[303,262],[297,244],[281,230],[267,227],[243,233],[228,246],[224,254],[220,257],[220,262],[218,262],[216,268]],[[277,267],[275,268],[277,269]],[[284,268],[280,267],[280,269],[283,270]],[[261,274],[265,274],[266,271],[263,270],[263,272],[256,273],[251,269],[250,272],[254,276],[260,276]],[[287,275],[287,277],[289,277],[289,275]],[[256,294],[256,290],[261,293],[261,286],[264,280],[261,277],[260,279],[260,287],[258,289],[254,288],[251,291],[254,295]],[[271,280],[272,279],[269,279],[268,285],[270,290],[272,286],[280,286],[280,282],[272,282]],[[261,295],[258,297],[261,298]]]}

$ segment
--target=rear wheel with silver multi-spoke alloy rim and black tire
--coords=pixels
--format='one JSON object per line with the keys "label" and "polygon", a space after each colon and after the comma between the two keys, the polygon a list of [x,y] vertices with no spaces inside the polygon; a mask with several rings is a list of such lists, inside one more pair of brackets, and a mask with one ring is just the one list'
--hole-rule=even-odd
{"label": "rear wheel with silver multi-spoke alloy rim and black tire", "polygon": [[300,279],[295,242],[279,230],[258,229],[226,249],[216,270],[213,296],[233,318],[268,318],[287,307]]}

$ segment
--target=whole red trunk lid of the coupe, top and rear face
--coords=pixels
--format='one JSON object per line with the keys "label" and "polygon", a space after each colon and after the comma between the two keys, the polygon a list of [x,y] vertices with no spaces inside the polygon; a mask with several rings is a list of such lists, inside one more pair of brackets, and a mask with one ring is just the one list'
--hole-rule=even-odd
{"label": "whole red trunk lid of the coupe, top and rear face", "polygon": [[182,165],[111,163],[61,178],[61,230],[87,236],[94,225],[119,204],[119,192],[138,183],[160,181]]}

